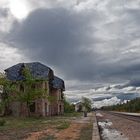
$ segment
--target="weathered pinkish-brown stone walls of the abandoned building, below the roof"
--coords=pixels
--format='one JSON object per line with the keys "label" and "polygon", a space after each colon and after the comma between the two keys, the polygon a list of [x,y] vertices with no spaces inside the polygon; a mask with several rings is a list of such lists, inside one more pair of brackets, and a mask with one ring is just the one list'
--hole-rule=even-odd
{"label": "weathered pinkish-brown stone walls of the abandoned building, below the roof", "polygon": [[[49,83],[47,81],[38,82],[35,85],[37,89],[43,89],[44,95],[51,96],[52,100],[48,100],[47,98],[40,98],[33,101],[35,110],[34,112],[30,112],[31,116],[52,116],[63,114],[64,112],[64,104],[62,98],[62,91],[60,89],[51,89],[49,88]],[[26,87],[17,85],[17,89],[23,90],[24,94],[26,92]],[[47,89],[45,91],[45,89]],[[12,111],[13,116],[28,116],[29,109],[27,107],[27,103],[13,102],[10,105],[10,109]]]}

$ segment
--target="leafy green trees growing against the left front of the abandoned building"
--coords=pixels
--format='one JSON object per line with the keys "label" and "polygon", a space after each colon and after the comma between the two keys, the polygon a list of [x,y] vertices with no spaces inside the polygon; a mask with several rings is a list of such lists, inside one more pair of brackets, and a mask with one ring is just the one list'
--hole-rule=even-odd
{"label": "leafy green trees growing against the left front of the abandoned building", "polygon": [[[4,75],[0,75],[0,85],[3,86],[0,111],[3,112],[4,115],[11,113],[9,110],[9,105],[11,102],[18,101],[20,103],[26,103],[28,108],[28,116],[30,116],[30,106],[35,99],[43,97],[48,98],[50,102],[53,101],[52,97],[48,96],[47,89],[35,88],[35,84],[39,85],[41,79],[35,79],[27,67],[23,67],[21,74],[23,79],[15,82],[8,80]],[[20,90],[17,86],[20,87]]]}

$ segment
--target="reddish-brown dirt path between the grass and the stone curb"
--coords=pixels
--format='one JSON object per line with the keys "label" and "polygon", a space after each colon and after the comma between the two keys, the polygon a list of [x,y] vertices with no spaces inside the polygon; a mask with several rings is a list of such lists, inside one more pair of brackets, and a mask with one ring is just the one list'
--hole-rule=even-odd
{"label": "reddish-brown dirt path between the grass and the stone curb", "polygon": [[33,132],[25,140],[40,140],[41,138],[48,138],[49,136],[56,140],[78,140],[81,129],[90,123],[91,118],[92,113],[89,113],[88,117],[80,117],[72,120],[67,129],[57,130],[55,128],[49,128],[43,131]]}

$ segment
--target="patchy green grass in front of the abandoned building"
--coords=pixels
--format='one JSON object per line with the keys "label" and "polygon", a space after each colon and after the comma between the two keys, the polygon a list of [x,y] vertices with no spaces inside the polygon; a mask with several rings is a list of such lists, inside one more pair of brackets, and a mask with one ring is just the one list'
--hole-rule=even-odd
{"label": "patchy green grass in front of the abandoned building", "polygon": [[[0,117],[5,120],[5,124],[0,126],[0,132],[8,136],[10,140],[27,138],[29,133],[46,130],[48,128],[63,130],[70,126],[73,117],[80,116],[79,113],[67,113],[63,116],[53,117]],[[46,136],[44,140],[54,140],[53,136]]]}

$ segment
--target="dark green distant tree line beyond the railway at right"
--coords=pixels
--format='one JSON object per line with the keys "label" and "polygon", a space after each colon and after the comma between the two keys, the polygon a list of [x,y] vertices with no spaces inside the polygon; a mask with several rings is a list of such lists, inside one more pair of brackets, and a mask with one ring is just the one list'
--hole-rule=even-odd
{"label": "dark green distant tree line beyond the railway at right", "polygon": [[124,104],[117,104],[108,107],[102,107],[103,110],[121,111],[121,112],[140,112],[140,98],[127,101]]}

